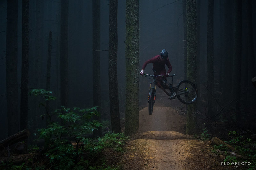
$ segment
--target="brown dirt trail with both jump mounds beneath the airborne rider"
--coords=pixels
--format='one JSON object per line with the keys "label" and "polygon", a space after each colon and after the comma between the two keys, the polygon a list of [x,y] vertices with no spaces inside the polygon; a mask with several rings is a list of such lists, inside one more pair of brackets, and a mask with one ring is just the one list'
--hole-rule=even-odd
{"label": "brown dirt trail with both jump mounds beneath the airborne rider", "polygon": [[185,109],[177,99],[161,101],[158,96],[152,115],[148,107],[140,110],[140,133],[131,137],[125,152],[105,153],[108,163],[125,170],[234,169],[222,165],[225,156],[212,153],[210,141],[185,134]]}

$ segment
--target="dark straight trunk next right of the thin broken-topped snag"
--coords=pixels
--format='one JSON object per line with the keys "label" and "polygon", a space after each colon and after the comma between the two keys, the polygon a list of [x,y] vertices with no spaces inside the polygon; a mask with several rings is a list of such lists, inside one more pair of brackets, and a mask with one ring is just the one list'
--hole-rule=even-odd
{"label": "dark straight trunk next right of the thin broken-topped snag", "polygon": [[68,107],[68,0],[61,0],[60,104]]}

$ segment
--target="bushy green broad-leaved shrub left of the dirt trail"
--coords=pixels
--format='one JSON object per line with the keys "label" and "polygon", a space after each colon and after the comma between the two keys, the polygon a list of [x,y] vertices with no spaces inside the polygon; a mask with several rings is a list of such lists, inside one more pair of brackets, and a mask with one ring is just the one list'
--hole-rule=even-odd
{"label": "bushy green broad-leaved shrub left of the dirt trail", "polygon": [[[122,151],[121,146],[127,137],[123,133],[107,133],[103,137],[89,138],[86,134],[102,127],[102,124],[93,120],[93,115],[99,115],[97,107],[90,109],[66,108],[56,110],[55,114],[61,119],[49,124],[47,128],[39,129],[40,138],[45,139],[45,156],[49,159],[52,169],[80,169],[90,167],[92,161],[107,147],[114,147]],[[64,135],[70,137],[71,144]],[[82,169],[83,169],[82,168]],[[99,167],[97,167],[99,169]],[[97,169],[96,168],[96,169]]]}

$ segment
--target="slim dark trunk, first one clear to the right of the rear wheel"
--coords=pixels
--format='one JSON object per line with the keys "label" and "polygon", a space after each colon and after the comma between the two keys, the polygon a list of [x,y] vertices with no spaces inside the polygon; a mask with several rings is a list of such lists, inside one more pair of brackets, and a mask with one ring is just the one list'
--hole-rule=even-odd
{"label": "slim dark trunk, first one clear to the right of the rear wheel", "polygon": [[207,21],[207,98],[208,113],[210,116],[214,114],[213,109],[213,84],[214,84],[214,41],[213,41],[213,6],[214,0],[208,0],[208,21]]}

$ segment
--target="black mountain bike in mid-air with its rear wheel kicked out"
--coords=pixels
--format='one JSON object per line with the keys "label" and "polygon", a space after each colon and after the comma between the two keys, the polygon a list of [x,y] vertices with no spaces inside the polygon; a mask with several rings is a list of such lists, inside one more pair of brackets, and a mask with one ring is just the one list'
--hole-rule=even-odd
{"label": "black mountain bike in mid-air with its rear wheel kicked out", "polygon": [[[152,115],[154,103],[156,101],[156,85],[158,87],[160,87],[168,96],[170,96],[171,93],[168,93],[166,91],[167,88],[164,87],[162,85],[162,83],[159,83],[156,81],[156,77],[159,77],[159,76],[164,77],[164,75],[154,76],[154,75],[144,73],[144,76],[145,77],[148,77],[148,76],[153,77],[153,81],[150,82],[149,92],[148,92],[148,113],[149,113],[149,115]],[[196,101],[197,95],[198,95],[196,85],[194,83],[192,83],[191,81],[182,80],[178,83],[178,85],[176,87],[174,87],[173,86],[173,76],[175,76],[175,74],[169,75],[167,77],[167,78],[171,78],[171,83],[169,83],[169,85],[171,86],[173,91],[176,92],[176,96],[171,99],[175,99],[177,97],[180,100],[180,102],[182,102],[186,105],[194,103]]]}

